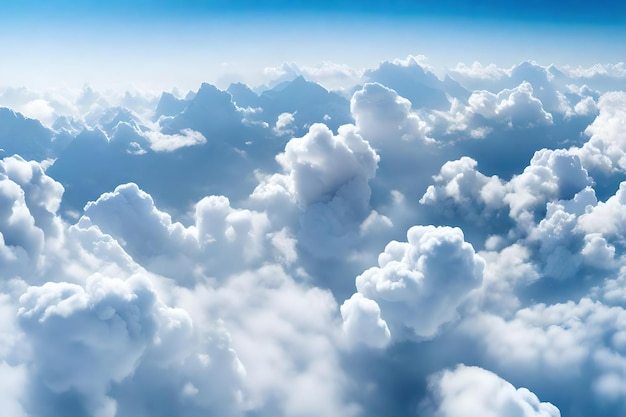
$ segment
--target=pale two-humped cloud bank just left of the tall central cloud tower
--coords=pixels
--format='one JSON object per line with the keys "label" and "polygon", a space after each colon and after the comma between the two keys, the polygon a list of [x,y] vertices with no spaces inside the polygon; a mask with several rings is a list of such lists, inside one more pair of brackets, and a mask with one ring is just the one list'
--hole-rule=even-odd
{"label": "pale two-humped cloud bank just left of the tall central cloud tower", "polygon": [[160,211],[136,184],[126,184],[87,204],[79,224],[96,225],[145,268],[184,285],[263,262],[268,251],[281,259],[293,257],[288,236],[270,234],[264,213],[234,209],[223,196],[200,200],[194,225],[185,227]]}

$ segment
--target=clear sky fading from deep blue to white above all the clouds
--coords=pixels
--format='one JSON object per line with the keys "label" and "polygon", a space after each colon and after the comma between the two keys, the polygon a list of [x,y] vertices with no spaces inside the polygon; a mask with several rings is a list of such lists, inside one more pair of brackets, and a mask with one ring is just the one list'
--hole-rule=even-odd
{"label": "clear sky fading from deep blue to white above all the clouds", "polygon": [[[626,5],[502,1],[41,1],[0,6],[2,85],[197,88],[293,61],[590,66],[626,56]],[[148,71],[146,71],[146,69]],[[229,77],[230,76],[230,77]]]}

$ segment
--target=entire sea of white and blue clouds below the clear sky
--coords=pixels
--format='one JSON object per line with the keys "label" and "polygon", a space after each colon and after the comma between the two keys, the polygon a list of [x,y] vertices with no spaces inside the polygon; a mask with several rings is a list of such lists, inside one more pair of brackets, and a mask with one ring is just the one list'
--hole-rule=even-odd
{"label": "entire sea of white and blue clouds below the clear sky", "polygon": [[2,413],[626,415],[623,64],[426,62],[0,90]]}

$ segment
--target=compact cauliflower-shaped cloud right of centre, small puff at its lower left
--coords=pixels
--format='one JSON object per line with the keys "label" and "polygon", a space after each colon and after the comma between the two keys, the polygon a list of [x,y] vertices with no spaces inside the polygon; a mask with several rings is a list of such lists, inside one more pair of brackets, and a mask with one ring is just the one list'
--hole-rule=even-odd
{"label": "compact cauliflower-shaped cloud right of centre, small puff at its lower left", "polygon": [[378,266],[356,278],[357,290],[365,298],[357,296],[344,304],[346,326],[370,326],[365,334],[372,338],[365,342],[381,344],[386,325],[376,318],[377,308],[369,299],[380,306],[392,335],[398,332],[401,337],[406,327],[418,338],[432,338],[456,318],[467,293],[481,285],[484,267],[460,229],[414,226],[407,232],[407,242],[387,244]]}

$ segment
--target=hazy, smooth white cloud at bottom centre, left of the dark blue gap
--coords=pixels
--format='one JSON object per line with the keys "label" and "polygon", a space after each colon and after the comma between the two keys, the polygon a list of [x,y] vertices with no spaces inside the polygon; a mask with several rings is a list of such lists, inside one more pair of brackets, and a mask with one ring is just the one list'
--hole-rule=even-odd
{"label": "hazy, smooth white cloud at bottom centre, left of the dark blue gap", "polygon": [[266,265],[234,275],[219,288],[178,290],[177,298],[196,317],[222,318],[245,366],[247,407],[259,415],[358,414],[346,395],[341,323],[329,291]]}

